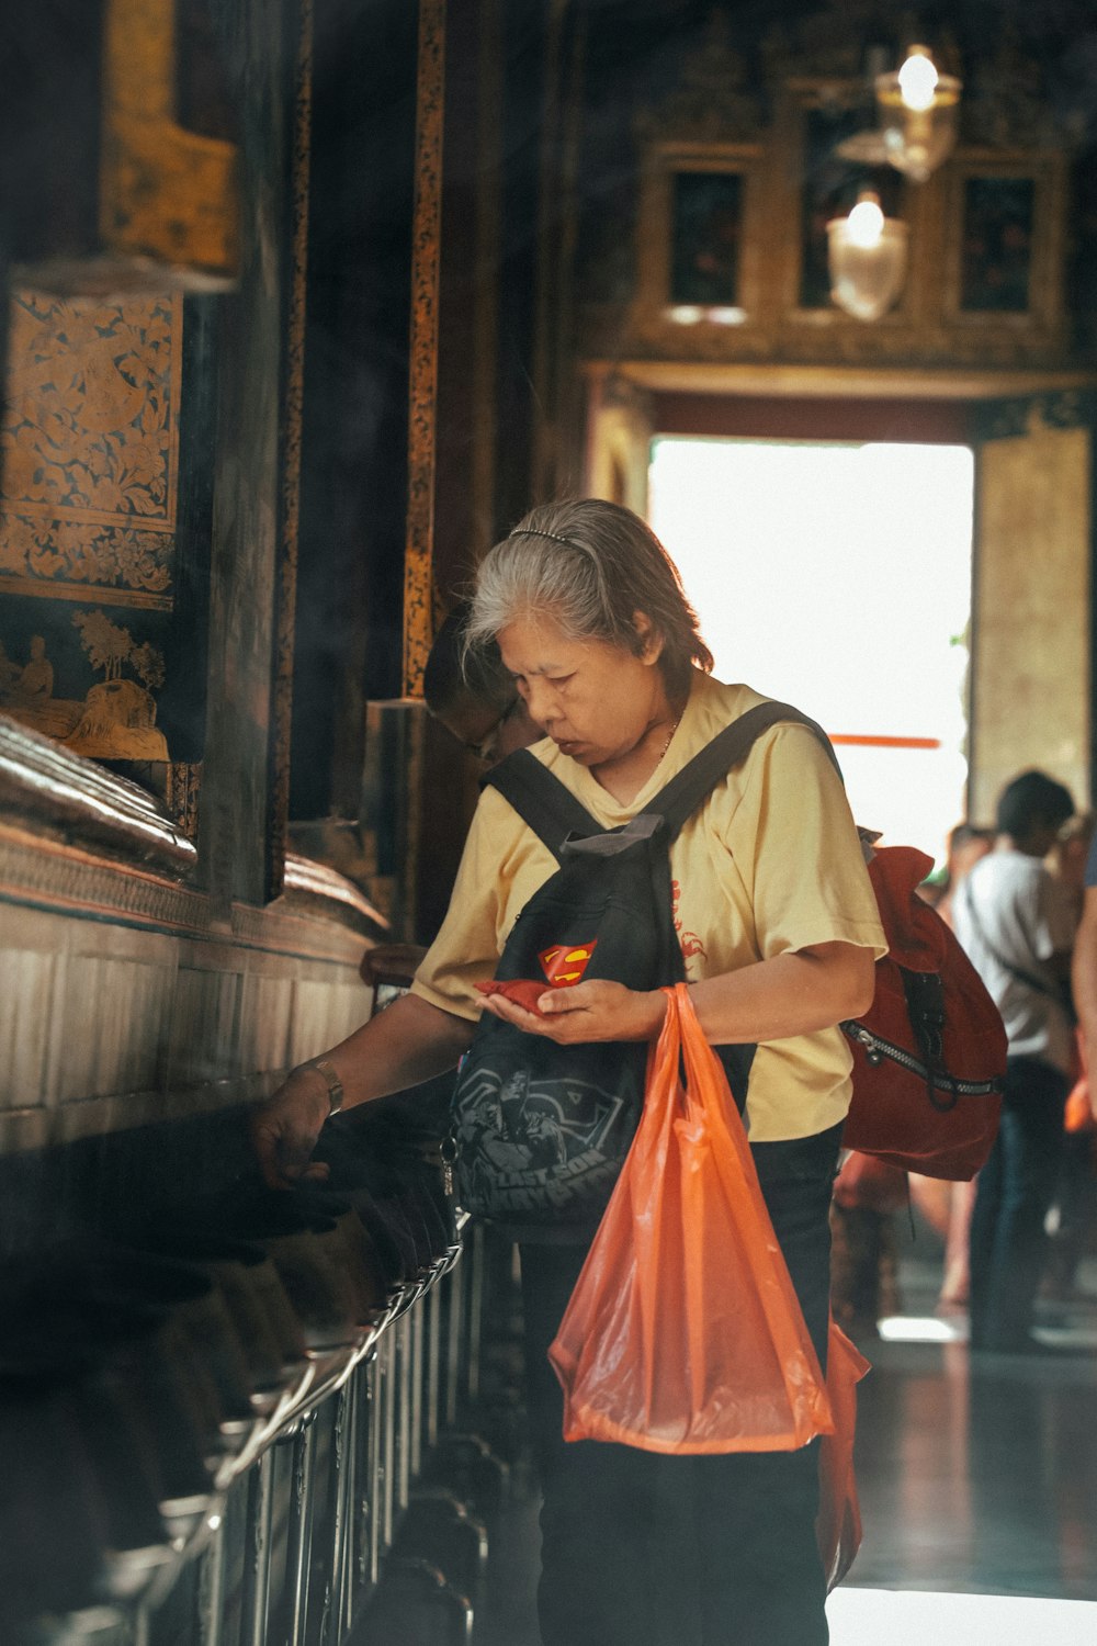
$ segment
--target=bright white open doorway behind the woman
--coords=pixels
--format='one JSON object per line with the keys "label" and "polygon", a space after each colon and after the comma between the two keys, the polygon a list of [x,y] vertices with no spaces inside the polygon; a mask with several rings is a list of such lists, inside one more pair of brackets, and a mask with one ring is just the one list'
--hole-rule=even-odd
{"label": "bright white open doorway behind the woman", "polygon": [[974,454],[658,438],[648,518],[720,680],[821,721],[859,823],[937,861],[965,813]]}

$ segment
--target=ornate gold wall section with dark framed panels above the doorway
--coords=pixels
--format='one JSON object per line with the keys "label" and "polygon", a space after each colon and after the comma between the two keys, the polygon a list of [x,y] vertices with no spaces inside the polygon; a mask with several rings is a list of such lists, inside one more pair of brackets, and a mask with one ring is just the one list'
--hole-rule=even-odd
{"label": "ornate gold wall section with dark framed panels above the doorway", "polygon": [[[914,186],[878,143],[863,18],[834,0],[765,40],[735,30],[714,21],[635,117],[638,194],[590,194],[581,354],[636,380],[656,364],[711,369],[709,382],[747,367],[1072,369],[1076,138],[1039,67],[1005,40],[988,72],[974,66],[960,146]],[[867,186],[910,234],[903,291],[872,323],[831,300],[827,258],[827,222]]]}

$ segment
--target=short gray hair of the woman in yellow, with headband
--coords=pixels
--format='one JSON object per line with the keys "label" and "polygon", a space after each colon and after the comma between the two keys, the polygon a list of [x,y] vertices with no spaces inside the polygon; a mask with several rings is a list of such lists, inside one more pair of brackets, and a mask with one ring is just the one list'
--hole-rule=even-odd
{"label": "short gray hair of the woman in yellow, with headband", "polygon": [[508,624],[530,616],[551,617],[572,640],[607,640],[640,655],[636,612],[663,640],[668,691],[687,695],[691,665],[711,670],[712,653],[651,527],[600,497],[541,504],[480,563],[465,655],[490,649]]}

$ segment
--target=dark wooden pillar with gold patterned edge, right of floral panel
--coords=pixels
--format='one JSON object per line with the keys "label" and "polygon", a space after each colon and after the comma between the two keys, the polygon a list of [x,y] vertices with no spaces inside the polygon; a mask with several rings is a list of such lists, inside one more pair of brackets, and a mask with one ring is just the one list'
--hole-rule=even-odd
{"label": "dark wooden pillar with gold patterned edge, right of floral panel", "polygon": [[285,413],[299,369],[288,344],[286,249],[301,12],[294,0],[222,0],[217,20],[240,110],[242,247],[240,283],[220,316],[199,874],[227,909],[281,889],[285,754],[276,741],[293,604],[286,484],[296,461]]}

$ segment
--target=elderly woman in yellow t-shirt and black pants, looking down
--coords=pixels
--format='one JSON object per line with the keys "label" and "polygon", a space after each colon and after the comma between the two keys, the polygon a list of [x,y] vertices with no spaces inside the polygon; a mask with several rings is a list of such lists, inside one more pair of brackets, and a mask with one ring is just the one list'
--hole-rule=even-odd
{"label": "elderly woman in yellow t-shirt and black pants, looking down", "polygon": [[[469,632],[498,647],[544,731],[533,756],[604,828],[643,811],[717,732],[765,701],[711,678],[712,657],[660,542],[627,509],[594,499],[535,509],[487,555]],[[658,1037],[660,989],[582,981],[546,993],[543,1016],[477,993],[554,871],[548,848],[485,790],[449,914],[411,993],[334,1047],[324,1068],[294,1070],[257,1113],[268,1180],[308,1170],[332,1091],[342,1088],[349,1106],[451,1068],[482,1011],[561,1044]],[[870,1004],[885,940],[840,780],[806,728],[771,728],[717,783],[674,839],[671,876],[701,1027],[715,1045],[758,1047],[745,1121],[822,1360],[827,1210],[850,1095],[837,1024]],[[589,1231],[559,1233],[571,1243],[541,1233],[521,1248],[546,1646],[824,1643],[814,1444],[796,1453],[664,1457],[561,1439],[546,1351]]]}

